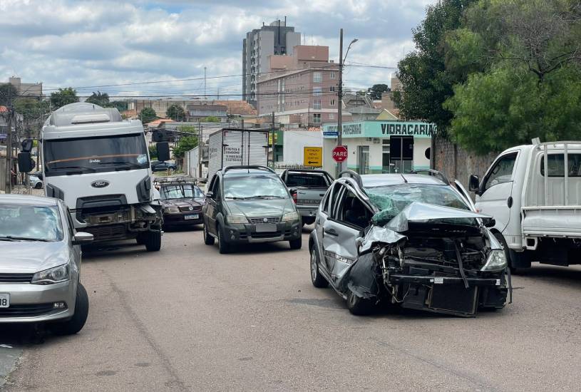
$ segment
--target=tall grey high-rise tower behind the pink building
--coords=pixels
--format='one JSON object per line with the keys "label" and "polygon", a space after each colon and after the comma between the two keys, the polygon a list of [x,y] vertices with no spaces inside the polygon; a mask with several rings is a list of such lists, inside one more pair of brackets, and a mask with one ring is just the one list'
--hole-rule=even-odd
{"label": "tall grey high-rise tower behind the pink building", "polygon": [[256,105],[257,80],[268,70],[268,56],[292,54],[292,48],[300,43],[301,33],[287,26],[286,17],[246,33],[242,41],[242,99]]}

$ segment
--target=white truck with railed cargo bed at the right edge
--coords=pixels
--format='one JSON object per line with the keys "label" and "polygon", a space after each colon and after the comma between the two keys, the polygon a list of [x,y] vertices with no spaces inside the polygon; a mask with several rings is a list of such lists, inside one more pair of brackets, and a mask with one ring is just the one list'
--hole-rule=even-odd
{"label": "white truck with railed cargo bed at the right edge", "polygon": [[510,267],[581,264],[581,141],[519,145],[471,175],[478,212],[495,219]]}

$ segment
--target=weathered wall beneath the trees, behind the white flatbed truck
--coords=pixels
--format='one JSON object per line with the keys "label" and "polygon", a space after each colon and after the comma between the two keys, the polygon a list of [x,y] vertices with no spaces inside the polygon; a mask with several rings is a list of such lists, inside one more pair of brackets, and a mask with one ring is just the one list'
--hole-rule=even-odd
{"label": "weathered wall beneath the trees, behind the white flatbed truck", "polygon": [[468,177],[471,174],[483,177],[485,171],[497,157],[497,153],[476,155],[469,153],[458,145],[447,140],[436,139],[434,155],[436,170],[440,170],[450,180],[458,180],[468,189]]}

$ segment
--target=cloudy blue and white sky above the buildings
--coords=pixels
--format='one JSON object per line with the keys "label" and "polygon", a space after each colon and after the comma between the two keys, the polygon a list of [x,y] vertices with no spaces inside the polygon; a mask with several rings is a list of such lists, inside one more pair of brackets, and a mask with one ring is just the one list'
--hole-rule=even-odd
{"label": "cloudy blue and white sky above the buildings", "polygon": [[[242,38],[263,21],[287,16],[305,43],[329,46],[336,61],[342,27],[346,43],[359,38],[347,63],[395,67],[433,2],[0,0],[0,81],[41,81],[46,93],[73,86],[81,95],[196,95],[207,67],[209,94],[220,88],[223,98],[240,99]],[[394,71],[349,66],[345,86],[387,83]],[[110,86],[119,84],[126,86]]]}

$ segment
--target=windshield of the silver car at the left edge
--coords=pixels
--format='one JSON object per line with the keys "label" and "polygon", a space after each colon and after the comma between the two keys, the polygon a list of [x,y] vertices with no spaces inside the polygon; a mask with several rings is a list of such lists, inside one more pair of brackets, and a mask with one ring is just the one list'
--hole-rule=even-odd
{"label": "windshield of the silver car at the left edge", "polygon": [[3,237],[62,241],[63,225],[58,208],[0,203],[0,240]]}

